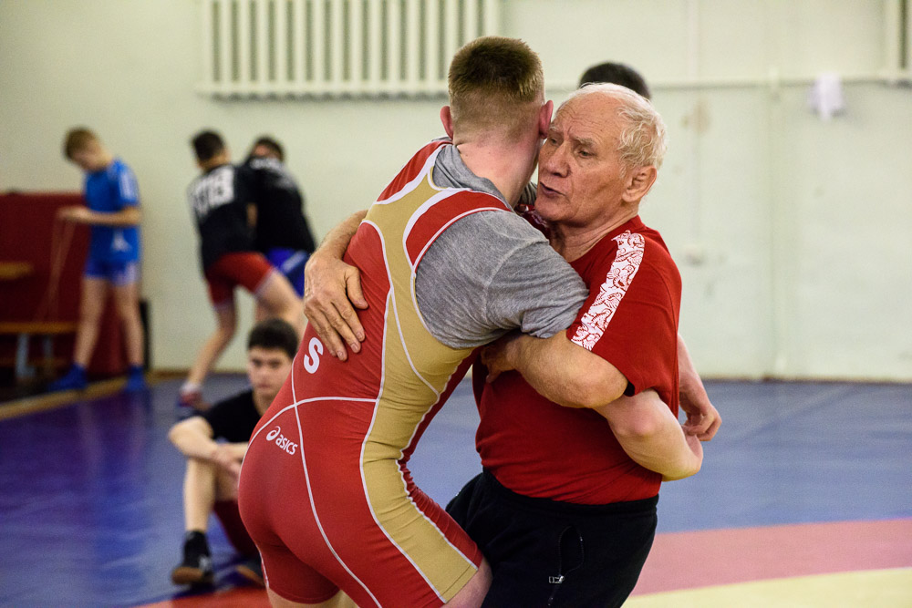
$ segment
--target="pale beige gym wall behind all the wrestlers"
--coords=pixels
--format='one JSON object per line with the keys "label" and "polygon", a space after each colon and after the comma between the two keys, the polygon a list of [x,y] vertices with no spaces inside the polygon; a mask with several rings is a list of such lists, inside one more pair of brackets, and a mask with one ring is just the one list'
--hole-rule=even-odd
{"label": "pale beige gym wall behind all the wrestlers", "polygon": [[[502,3],[555,100],[608,58],[650,80],[671,141],[643,215],[679,262],[704,374],[912,379],[912,89],[883,78],[888,4]],[[188,366],[212,328],[184,194],[194,131],[222,130],[238,156],[261,132],[282,139],[318,236],[440,133],[440,99],[204,97],[199,21],[188,0],[0,0],[0,190],[77,190],[59,154],[76,124],[130,163],[162,367]],[[805,108],[826,70],[846,78],[828,122]],[[242,365],[241,343],[223,367]]]}

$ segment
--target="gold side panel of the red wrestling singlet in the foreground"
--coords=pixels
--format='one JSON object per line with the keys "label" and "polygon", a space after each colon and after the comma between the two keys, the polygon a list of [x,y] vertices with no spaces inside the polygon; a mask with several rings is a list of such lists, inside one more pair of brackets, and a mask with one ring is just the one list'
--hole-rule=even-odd
{"label": "gold side panel of the red wrestling singlet in the foreground", "polygon": [[472,349],[441,344],[421,322],[414,297],[415,276],[405,250],[409,220],[439,194],[425,176],[398,201],[376,204],[368,212],[382,234],[390,292],[383,335],[383,386],[364,447],[362,468],[368,498],[390,539],[449,601],[475,572],[461,554],[409,500],[397,460],[416,428]]}

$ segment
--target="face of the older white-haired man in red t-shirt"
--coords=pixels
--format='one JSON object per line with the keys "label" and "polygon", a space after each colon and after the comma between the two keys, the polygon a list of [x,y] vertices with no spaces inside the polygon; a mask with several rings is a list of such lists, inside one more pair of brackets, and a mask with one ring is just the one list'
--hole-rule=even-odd
{"label": "face of the older white-haired man in red t-shirt", "polygon": [[596,227],[621,209],[617,101],[591,94],[558,110],[539,153],[535,210],[549,222]]}

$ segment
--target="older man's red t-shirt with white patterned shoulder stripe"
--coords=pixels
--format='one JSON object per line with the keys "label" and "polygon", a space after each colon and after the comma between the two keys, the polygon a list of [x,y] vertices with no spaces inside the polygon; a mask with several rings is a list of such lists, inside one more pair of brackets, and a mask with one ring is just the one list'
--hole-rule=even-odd
{"label": "older man's red t-shirt with white patterned shoulder stripe", "polygon": [[[567,337],[616,366],[627,394],[653,388],[677,414],[681,282],[662,237],[636,217],[571,265],[589,297]],[[661,476],[631,460],[596,412],[548,401],[517,372],[474,383],[476,448],[507,488],[578,504],[658,494]]]}

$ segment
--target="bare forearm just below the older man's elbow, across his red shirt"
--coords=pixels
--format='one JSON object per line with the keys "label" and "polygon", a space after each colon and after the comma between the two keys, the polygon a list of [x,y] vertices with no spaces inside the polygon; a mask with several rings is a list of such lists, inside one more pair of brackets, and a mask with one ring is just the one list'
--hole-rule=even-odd
{"label": "bare forearm just below the older man's elbow, across his red shirt", "polygon": [[620,398],[596,411],[606,417],[621,448],[641,467],[666,480],[683,479],[700,470],[700,441],[685,436],[678,418],[654,391]]}

